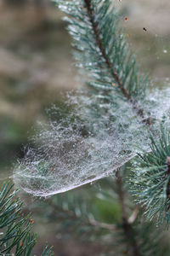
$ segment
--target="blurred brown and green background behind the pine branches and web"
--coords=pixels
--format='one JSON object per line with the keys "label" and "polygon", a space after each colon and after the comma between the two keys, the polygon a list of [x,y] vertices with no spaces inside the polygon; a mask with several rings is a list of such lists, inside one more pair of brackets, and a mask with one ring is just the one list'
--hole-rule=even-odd
{"label": "blurred brown and green background behind the pine branches and web", "polygon": [[[137,53],[141,70],[150,73],[156,84],[169,84],[170,2],[115,0],[114,4],[121,9],[122,26],[129,44]],[[62,91],[82,85],[72,64],[71,38],[65,30],[62,16],[48,0],[0,1],[2,181],[12,175],[13,163],[22,157],[23,145],[28,143],[28,138],[34,133],[37,121],[47,120],[45,109],[52,103],[62,101]],[[146,32],[143,28],[146,28]],[[101,214],[104,214],[107,206],[101,201],[97,203]],[[55,245],[55,255],[92,255],[96,252],[96,248],[89,247],[89,253],[87,249],[84,253],[86,245],[74,240],[66,243],[62,239],[57,240],[53,235],[53,221],[43,222],[39,213],[35,213],[35,218],[38,237],[42,242],[49,241]],[[105,218],[111,218],[110,208],[105,211]],[[50,230],[48,234],[47,229]]]}

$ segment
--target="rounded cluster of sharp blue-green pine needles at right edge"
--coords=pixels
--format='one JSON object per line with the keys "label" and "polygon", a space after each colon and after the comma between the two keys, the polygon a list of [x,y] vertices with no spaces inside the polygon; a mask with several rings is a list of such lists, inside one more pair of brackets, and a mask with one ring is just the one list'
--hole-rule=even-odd
{"label": "rounded cluster of sharp blue-green pine needles at right edge", "polygon": [[159,141],[150,137],[150,153],[140,154],[132,166],[130,185],[135,200],[144,206],[147,218],[158,224],[170,222],[170,134],[161,129]]}

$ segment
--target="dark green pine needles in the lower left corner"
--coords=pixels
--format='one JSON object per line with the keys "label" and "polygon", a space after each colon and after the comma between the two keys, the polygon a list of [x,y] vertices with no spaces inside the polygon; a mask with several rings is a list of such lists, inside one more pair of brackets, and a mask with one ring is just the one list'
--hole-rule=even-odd
{"label": "dark green pine needles in the lower left corner", "polygon": [[[32,219],[22,214],[22,202],[16,198],[17,190],[4,183],[0,191],[0,255],[32,255],[36,236],[31,234]],[[47,246],[43,256],[53,255]]]}

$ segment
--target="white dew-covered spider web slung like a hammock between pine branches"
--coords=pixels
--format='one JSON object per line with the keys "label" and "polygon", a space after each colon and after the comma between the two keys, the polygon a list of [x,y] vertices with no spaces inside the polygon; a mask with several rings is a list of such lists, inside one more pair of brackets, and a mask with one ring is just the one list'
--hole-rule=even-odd
{"label": "white dew-covered spider web slung like a hammock between pine branches", "polygon": [[[155,119],[156,131],[169,113],[170,90],[164,96],[162,90],[154,93],[141,104]],[[26,148],[25,158],[15,166],[14,182],[31,195],[46,197],[114,176],[137,153],[149,150],[150,129],[130,102],[114,91],[112,99],[105,102],[102,96],[77,92],[67,97],[70,113],[53,107],[48,124],[40,125],[31,138],[36,149]]]}

